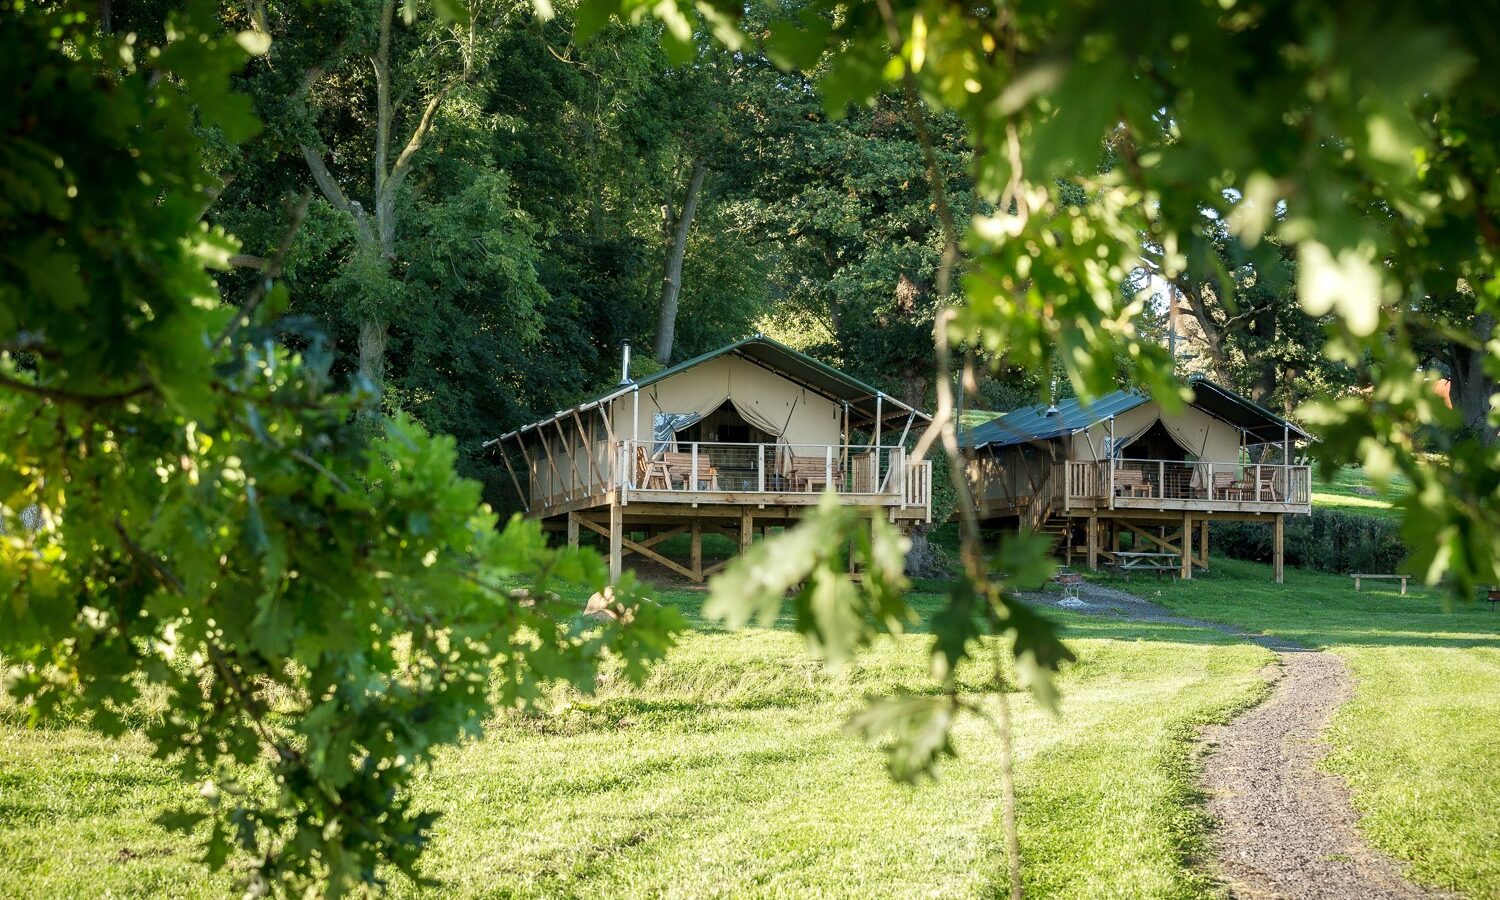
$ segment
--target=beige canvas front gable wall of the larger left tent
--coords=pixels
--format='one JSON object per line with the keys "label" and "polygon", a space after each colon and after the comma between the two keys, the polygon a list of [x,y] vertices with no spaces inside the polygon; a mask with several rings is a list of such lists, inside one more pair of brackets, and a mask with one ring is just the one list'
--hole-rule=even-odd
{"label": "beige canvas front gable wall of the larger left tent", "polygon": [[[747,422],[789,444],[838,444],[843,406],[735,354],[708,360],[640,388],[640,440],[651,440],[657,412],[706,416],[726,399]],[[634,438],[634,404],[626,394],[614,404],[615,436]]]}

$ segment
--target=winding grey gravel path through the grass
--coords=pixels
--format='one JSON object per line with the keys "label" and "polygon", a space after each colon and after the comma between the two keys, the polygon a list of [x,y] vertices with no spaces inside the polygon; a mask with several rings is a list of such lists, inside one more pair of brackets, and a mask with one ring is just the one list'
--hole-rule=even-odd
{"label": "winding grey gravel path through the grass", "polygon": [[1244,638],[1276,652],[1266,676],[1270,699],[1228,724],[1206,729],[1202,788],[1218,820],[1218,870],[1233,897],[1386,900],[1446,897],[1401,878],[1360,837],[1342,780],[1320,772],[1322,735],[1353,696],[1340,657],[1298,644],[1176,615],[1124,591],[1084,585],[1076,602],[1058,594],[1026,600],[1082,614],[1194,626]]}

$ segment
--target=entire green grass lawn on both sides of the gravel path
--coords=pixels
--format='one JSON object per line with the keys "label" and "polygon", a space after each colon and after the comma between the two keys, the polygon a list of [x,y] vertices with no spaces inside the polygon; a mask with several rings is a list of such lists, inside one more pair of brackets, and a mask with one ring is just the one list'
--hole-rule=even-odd
{"label": "entire green grass lawn on both sides of the gravel path", "polygon": [[[1500,614],[1347,578],[1215,562],[1128,586],[1197,616],[1328,646],[1356,699],[1329,766],[1372,840],[1426,884],[1497,897]],[[417,786],[444,812],[426,860],[444,896],[994,896],[1004,885],[996,740],[966,724],[933,784],[892,784],[840,723],[861,699],[930,687],[924,634],[826,674],[784,628],[693,630],[640,688],[606,681],[507,714]],[[921,609],[936,604],[918,596]],[[1017,699],[1024,879],[1035,897],[1203,897],[1200,723],[1264,694],[1263,650],[1170,626],[1062,618],[1080,662],[1060,720]],[[144,741],[0,724],[0,897],[218,897],[190,840],[152,819],[190,798]],[[396,882],[398,896],[420,891]]]}

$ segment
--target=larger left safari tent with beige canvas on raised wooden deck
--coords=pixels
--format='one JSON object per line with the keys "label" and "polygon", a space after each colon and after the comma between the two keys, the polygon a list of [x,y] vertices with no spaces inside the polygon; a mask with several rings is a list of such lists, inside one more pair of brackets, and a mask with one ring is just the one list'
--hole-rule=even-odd
{"label": "larger left safari tent with beige canvas on raised wooden deck", "polygon": [[[770,338],[754,336],[633,380],[488,446],[526,514],[609,538],[700,580],[700,534],[746,546],[756,526],[800,518],[825,492],[909,525],[932,516],[930,465],[908,460],[921,411]],[[627,536],[644,534],[640,540]],[[692,536],[692,558],[657,544]]]}

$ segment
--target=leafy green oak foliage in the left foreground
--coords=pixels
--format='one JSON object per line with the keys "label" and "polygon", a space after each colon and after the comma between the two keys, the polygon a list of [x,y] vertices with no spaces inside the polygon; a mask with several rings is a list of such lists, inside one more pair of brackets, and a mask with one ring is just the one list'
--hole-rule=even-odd
{"label": "leafy green oak foliage in the left foreground", "polygon": [[262,33],[194,4],[153,46],[92,15],[0,9],[18,87],[0,166],[20,176],[0,178],[8,690],[33,722],[108,734],[165,696],[146,736],[204,802],[164,824],[208,819],[207,862],[238,850],[252,896],[417,876],[435,818],[406,790],[417,766],[546,681],[639,678],[680,622],[628,579],[618,620],[582,618],[554,588],[602,590],[597,555],[500,528],[452,438],[336,390],[318,340],[278,340],[308,200],[220,302],[212,270],[240,246],[200,220],[202,134],[255,130],[230,74]]}

